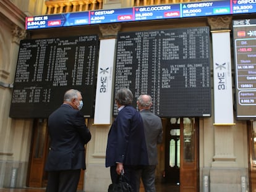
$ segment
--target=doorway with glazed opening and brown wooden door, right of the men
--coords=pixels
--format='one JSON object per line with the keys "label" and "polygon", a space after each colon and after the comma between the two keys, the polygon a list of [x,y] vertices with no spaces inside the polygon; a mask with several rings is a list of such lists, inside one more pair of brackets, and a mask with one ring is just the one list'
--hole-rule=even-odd
{"label": "doorway with glazed opening and brown wooden door, right of the men", "polygon": [[199,191],[198,118],[163,119],[163,186],[169,190]]}

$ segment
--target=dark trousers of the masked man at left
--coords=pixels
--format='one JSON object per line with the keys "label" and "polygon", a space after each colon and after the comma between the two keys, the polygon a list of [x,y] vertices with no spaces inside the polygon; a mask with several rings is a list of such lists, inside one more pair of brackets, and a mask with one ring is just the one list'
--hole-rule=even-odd
{"label": "dark trousers of the masked man at left", "polygon": [[76,192],[80,169],[48,172],[46,192]]}

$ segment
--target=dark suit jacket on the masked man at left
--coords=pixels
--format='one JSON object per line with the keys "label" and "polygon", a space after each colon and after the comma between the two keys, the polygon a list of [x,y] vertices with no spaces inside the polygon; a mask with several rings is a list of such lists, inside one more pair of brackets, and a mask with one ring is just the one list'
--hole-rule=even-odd
{"label": "dark suit jacket on the masked man at left", "polygon": [[51,145],[45,170],[85,169],[85,144],[91,133],[83,115],[69,104],[62,104],[48,119]]}

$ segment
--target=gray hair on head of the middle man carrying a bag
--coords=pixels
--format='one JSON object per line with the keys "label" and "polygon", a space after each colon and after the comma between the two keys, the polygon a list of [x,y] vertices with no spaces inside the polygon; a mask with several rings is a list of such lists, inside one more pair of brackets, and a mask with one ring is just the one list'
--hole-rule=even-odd
{"label": "gray hair on head of the middle man carrying a bag", "polygon": [[134,98],[132,91],[128,88],[123,88],[118,90],[116,93],[116,101],[122,106],[128,106],[132,104],[132,99]]}

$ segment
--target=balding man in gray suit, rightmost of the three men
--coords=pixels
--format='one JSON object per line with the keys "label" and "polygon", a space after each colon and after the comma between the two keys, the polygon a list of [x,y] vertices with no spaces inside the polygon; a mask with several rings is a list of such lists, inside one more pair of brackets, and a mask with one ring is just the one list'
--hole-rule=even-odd
{"label": "balding man in gray suit, rightmost of the three men", "polygon": [[[137,99],[137,106],[143,120],[149,162],[149,165],[142,166],[140,176],[145,192],[155,192],[155,169],[158,164],[157,144],[160,144],[163,140],[162,122],[160,117],[150,112],[150,107],[152,106],[150,95],[140,95]],[[140,178],[137,178],[137,180],[140,180]]]}

